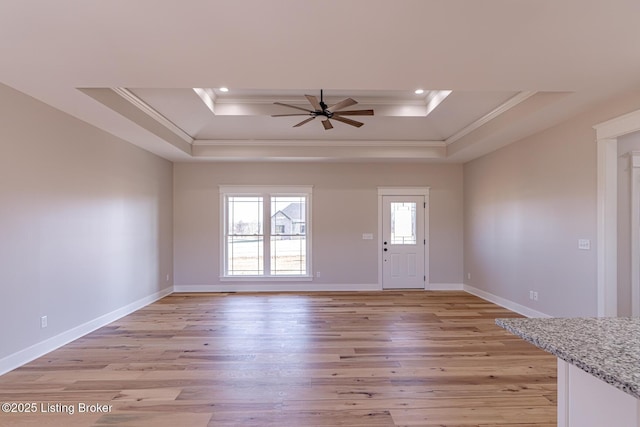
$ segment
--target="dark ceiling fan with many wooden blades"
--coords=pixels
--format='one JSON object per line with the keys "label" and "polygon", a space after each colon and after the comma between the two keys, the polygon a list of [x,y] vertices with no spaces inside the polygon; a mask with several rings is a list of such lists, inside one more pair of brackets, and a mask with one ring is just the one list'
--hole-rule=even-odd
{"label": "dark ceiling fan with many wooden blades", "polygon": [[322,126],[324,126],[325,130],[333,129],[333,125],[329,121],[329,119],[337,120],[342,123],[346,123],[351,126],[360,127],[364,123],[358,122],[356,120],[351,120],[344,116],[373,116],[373,110],[342,110],[343,108],[350,107],[352,105],[357,104],[358,102],[351,99],[343,99],[342,101],[334,104],[332,106],[328,106],[324,103],[324,97],[322,93],[322,89],[320,89],[320,101],[318,101],[318,97],[313,95],[305,95],[305,98],[309,101],[313,110],[309,110],[307,108],[298,107],[296,105],[291,104],[283,104],[282,102],[274,102],[276,105],[282,105],[284,107],[295,108],[296,110],[306,111],[306,113],[297,113],[297,114],[273,114],[271,117],[289,117],[289,116],[311,116],[307,119],[304,119],[300,123],[293,125],[293,127],[302,126],[305,123],[310,122],[316,117],[320,117],[322,119]]}

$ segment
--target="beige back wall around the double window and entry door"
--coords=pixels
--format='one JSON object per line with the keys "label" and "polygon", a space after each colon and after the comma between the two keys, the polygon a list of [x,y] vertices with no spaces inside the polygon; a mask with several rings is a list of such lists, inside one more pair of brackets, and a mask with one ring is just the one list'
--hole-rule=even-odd
{"label": "beige back wall around the double window and entry door", "polygon": [[[176,286],[219,285],[221,184],[313,185],[313,270],[297,289],[378,283],[378,186],[428,186],[431,283],[462,283],[462,166],[176,163]],[[373,240],[362,240],[373,233]],[[266,286],[265,286],[266,287]]]}

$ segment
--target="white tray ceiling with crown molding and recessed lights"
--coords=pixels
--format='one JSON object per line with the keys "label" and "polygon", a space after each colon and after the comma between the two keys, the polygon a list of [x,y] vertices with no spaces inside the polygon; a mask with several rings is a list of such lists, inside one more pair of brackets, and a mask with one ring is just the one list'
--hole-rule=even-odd
{"label": "white tray ceiling with crown molding and recessed lights", "polygon": [[[637,0],[0,0],[0,82],[174,161],[464,162],[638,90],[639,16]],[[416,88],[452,93],[429,112]],[[320,89],[375,116],[270,117]]]}

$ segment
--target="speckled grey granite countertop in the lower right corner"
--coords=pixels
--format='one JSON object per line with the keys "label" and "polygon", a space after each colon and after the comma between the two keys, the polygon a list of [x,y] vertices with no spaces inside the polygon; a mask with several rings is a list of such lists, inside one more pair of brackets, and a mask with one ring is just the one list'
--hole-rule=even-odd
{"label": "speckled grey granite countertop in the lower right corner", "polygon": [[518,318],[496,324],[640,399],[640,318]]}

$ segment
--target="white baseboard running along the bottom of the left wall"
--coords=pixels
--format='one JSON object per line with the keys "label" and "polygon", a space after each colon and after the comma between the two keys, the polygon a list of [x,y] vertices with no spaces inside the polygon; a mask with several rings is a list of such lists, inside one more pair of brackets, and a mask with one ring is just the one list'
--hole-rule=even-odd
{"label": "white baseboard running along the bottom of the left wall", "polygon": [[69,329],[68,331],[62,332],[54,337],[48,338],[45,341],[39,342],[32,345],[31,347],[27,347],[24,350],[20,350],[17,353],[13,353],[7,357],[4,357],[0,359],[0,375],[12,371],[26,363],[29,363],[32,360],[37,359],[38,357],[44,356],[45,354],[57,348],[60,348],[73,340],[76,340],[90,332],[95,331],[98,328],[106,326],[109,323],[126,316],[127,314],[133,313],[134,311],[139,310],[142,307],[145,307],[161,298],[164,298],[165,296],[170,295],[172,292],[173,287],[163,289],[156,292],[155,294],[149,295],[148,297],[139,299],[138,301],[134,301],[131,304],[114,310],[111,313],[107,313],[105,315],[97,317],[89,322],[76,326],[75,328]]}

